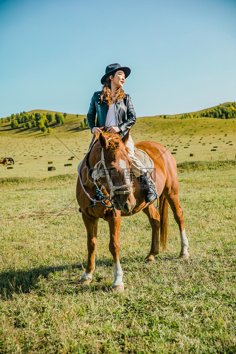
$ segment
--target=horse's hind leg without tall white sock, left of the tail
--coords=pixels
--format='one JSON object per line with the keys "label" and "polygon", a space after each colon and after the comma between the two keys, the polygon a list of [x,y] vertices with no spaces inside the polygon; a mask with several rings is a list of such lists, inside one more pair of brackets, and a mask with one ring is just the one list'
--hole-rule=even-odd
{"label": "horse's hind leg without tall white sock, left of the tail", "polygon": [[154,261],[154,257],[159,253],[160,215],[154,204],[151,204],[147,208],[143,209],[143,212],[148,216],[152,229],[151,249],[148,256],[145,258],[146,262],[151,263]]}

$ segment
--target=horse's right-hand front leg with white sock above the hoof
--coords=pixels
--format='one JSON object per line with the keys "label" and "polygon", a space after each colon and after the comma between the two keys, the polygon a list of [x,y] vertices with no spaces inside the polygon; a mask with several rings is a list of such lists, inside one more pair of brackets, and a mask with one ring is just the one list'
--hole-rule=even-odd
{"label": "horse's right-hand front leg with white sock above the hoof", "polygon": [[109,213],[109,217],[106,218],[110,228],[110,242],[109,250],[114,260],[114,282],[112,287],[116,291],[125,290],[125,285],[122,281],[123,271],[119,261],[120,245],[119,245],[119,233],[120,233],[120,212],[117,211],[117,217],[114,212]]}

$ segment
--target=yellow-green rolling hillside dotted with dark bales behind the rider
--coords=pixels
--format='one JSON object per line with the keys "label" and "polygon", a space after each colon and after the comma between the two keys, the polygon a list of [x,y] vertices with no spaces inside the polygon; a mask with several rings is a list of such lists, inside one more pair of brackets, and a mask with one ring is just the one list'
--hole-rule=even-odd
{"label": "yellow-green rolling hillside dotted with dark bales behind the rider", "polygon": [[[48,111],[34,110],[29,113],[32,112]],[[77,173],[77,164],[86,155],[92,139],[89,128],[79,129],[84,118],[84,115],[77,117],[68,114],[65,125],[53,122],[50,126],[56,136],[47,132],[42,133],[38,128],[12,130],[8,121],[1,124],[0,158],[12,157],[16,164],[10,170],[0,165],[0,177],[48,177],[49,173],[50,176]],[[233,160],[236,155],[236,119],[232,118],[140,117],[137,118],[131,133],[134,142],[151,140],[162,144],[173,154],[177,163]],[[73,154],[56,137],[76,155],[77,159],[71,160]],[[55,171],[47,171],[48,161],[53,162]],[[68,162],[71,166],[64,166]]]}

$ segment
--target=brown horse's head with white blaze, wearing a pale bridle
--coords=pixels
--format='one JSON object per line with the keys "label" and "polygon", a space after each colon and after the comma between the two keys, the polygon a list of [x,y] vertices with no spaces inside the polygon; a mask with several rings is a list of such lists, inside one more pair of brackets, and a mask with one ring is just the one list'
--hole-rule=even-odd
{"label": "brown horse's head with white blaze, wearing a pale bridle", "polygon": [[[129,138],[129,130],[123,137],[111,133],[100,133],[98,141],[104,152],[105,166],[109,177],[100,178],[109,194],[114,193],[114,205],[117,210],[129,213],[136,205],[133,195],[130,168],[132,160],[129,158],[125,146]],[[100,154],[99,158],[100,159]],[[109,185],[108,180],[112,182]],[[112,188],[113,185],[113,188]]]}

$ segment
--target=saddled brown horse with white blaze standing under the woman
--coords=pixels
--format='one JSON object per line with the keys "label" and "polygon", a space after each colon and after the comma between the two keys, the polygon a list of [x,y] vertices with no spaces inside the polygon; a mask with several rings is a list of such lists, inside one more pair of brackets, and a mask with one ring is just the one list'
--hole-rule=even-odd
{"label": "saddled brown horse with white blaze standing under the woman", "polygon": [[[79,171],[76,198],[81,207],[82,218],[87,229],[88,247],[87,266],[80,280],[82,284],[92,280],[92,273],[95,269],[94,256],[99,218],[106,220],[109,224],[109,250],[115,265],[112,286],[115,290],[124,289],[123,272],[119,262],[121,216],[130,216],[141,210],[148,216],[152,228],[152,240],[146,262],[151,263],[159,253],[159,229],[160,245],[164,250],[166,249],[169,204],[180,230],[180,257],[183,259],[189,257],[183,210],[179,204],[178,197],[177,167],[173,156],[165,147],[152,141],[141,141],[135,144],[137,148],[145,150],[154,162],[155,167],[152,178],[160,195],[158,213],[153,203],[151,205],[145,204],[138,179],[134,178],[133,182],[131,182],[132,160],[128,157],[125,146],[128,137],[129,131],[122,138],[115,134],[100,133],[90,153],[87,154],[87,162],[84,159]],[[103,196],[100,196],[100,200],[103,198],[103,201],[91,201],[95,198],[96,190],[98,191],[98,187],[96,187],[94,182],[99,187],[99,193],[103,192]],[[111,207],[110,196],[116,210]]]}

